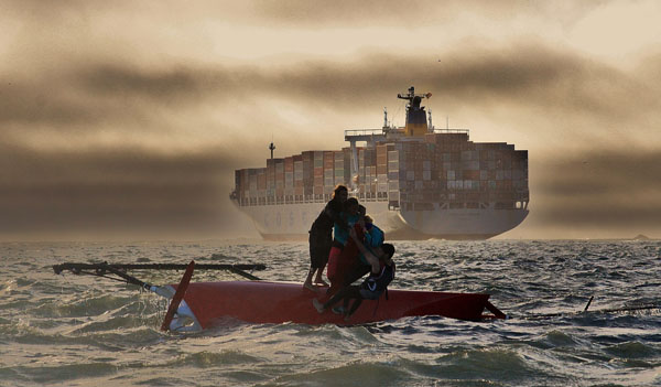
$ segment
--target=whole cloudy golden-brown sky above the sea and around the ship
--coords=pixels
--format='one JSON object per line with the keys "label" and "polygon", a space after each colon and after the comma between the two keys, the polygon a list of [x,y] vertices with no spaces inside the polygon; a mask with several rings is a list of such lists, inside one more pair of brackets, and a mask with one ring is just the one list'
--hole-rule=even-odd
{"label": "whole cloudy golden-brown sky above the sea and around the ship", "polygon": [[529,151],[500,238],[661,237],[661,2],[0,2],[0,240],[257,237],[234,170],[379,128]]}

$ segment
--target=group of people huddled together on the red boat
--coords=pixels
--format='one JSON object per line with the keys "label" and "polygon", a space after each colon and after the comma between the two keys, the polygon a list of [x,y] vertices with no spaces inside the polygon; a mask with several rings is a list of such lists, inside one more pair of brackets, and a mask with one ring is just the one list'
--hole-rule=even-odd
{"label": "group of people huddled together on the red boat", "polygon": [[[383,241],[383,232],[366,214],[366,208],[349,197],[345,185],[337,185],[333,198],[310,229],[311,267],[303,287],[316,292],[315,284],[328,286],[322,278],[326,264],[330,281],[328,301],[313,300],[319,313],[330,308],[349,321],[362,300],[379,299],[394,278],[394,247]],[[360,286],[351,284],[367,273]],[[339,301],[343,305],[333,308]]]}

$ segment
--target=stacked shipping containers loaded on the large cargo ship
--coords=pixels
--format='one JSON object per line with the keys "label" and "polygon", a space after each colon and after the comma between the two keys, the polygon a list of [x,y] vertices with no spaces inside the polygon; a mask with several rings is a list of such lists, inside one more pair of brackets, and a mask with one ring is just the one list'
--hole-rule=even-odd
{"label": "stacked shipping containers loaded on the large cargo ship", "polygon": [[[357,149],[356,194],[407,209],[514,208],[528,201],[528,151],[474,143],[468,133],[429,133]],[[235,172],[241,205],[327,201],[351,186],[351,149],[306,151]]]}

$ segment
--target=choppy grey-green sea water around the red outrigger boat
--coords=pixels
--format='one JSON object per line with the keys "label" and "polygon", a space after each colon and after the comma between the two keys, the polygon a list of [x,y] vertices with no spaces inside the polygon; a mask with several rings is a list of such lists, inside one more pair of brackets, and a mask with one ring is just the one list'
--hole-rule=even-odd
{"label": "choppy grey-green sea water around the red outrigger boat", "polygon": [[[394,245],[392,288],[488,292],[510,319],[162,333],[164,299],[51,266],[259,262],[263,279],[302,281],[307,244],[4,243],[0,386],[661,386],[661,241]],[[182,275],[131,273],[158,284]],[[213,279],[234,278],[194,277]],[[605,312],[627,308],[647,309]]]}

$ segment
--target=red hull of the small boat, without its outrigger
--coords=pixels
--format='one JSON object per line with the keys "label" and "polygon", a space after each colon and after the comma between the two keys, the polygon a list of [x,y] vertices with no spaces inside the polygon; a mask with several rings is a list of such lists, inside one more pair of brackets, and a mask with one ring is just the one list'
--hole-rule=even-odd
{"label": "red hull of the small boat, without its outrigger", "polygon": [[[177,286],[173,286],[176,289]],[[326,288],[315,293],[301,283],[267,281],[196,282],[186,290],[184,301],[202,329],[213,327],[227,318],[250,323],[347,324],[330,310],[318,313],[312,304],[327,300]],[[489,302],[489,294],[446,293],[435,291],[389,290],[378,301],[365,300],[348,321],[364,324],[415,315],[442,315],[459,320],[481,320],[485,308],[497,318],[500,311]],[[496,312],[497,311],[497,312]],[[500,313],[501,315],[498,315]],[[492,318],[494,315],[491,315]]]}

